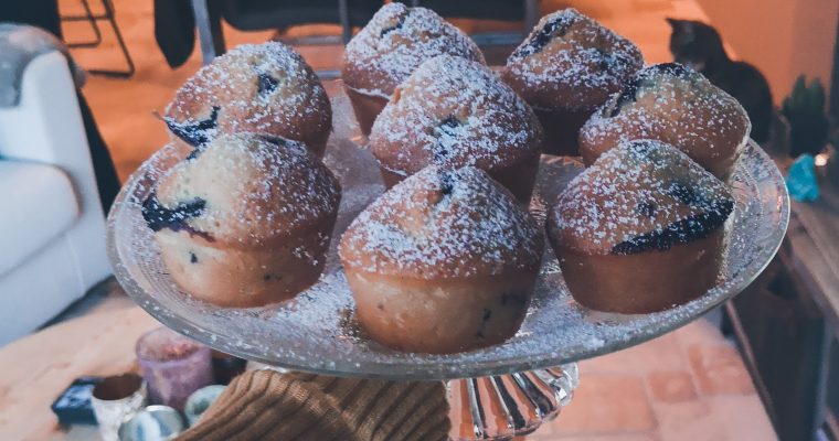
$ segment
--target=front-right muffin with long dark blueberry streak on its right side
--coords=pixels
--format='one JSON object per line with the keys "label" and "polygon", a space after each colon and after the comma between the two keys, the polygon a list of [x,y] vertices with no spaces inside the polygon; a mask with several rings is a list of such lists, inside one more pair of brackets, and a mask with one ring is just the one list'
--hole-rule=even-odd
{"label": "front-right muffin with long dark blueberry streak on its right side", "polygon": [[578,303],[648,313],[714,287],[733,207],[728,186],[675,147],[630,141],[571,181],[548,235]]}

